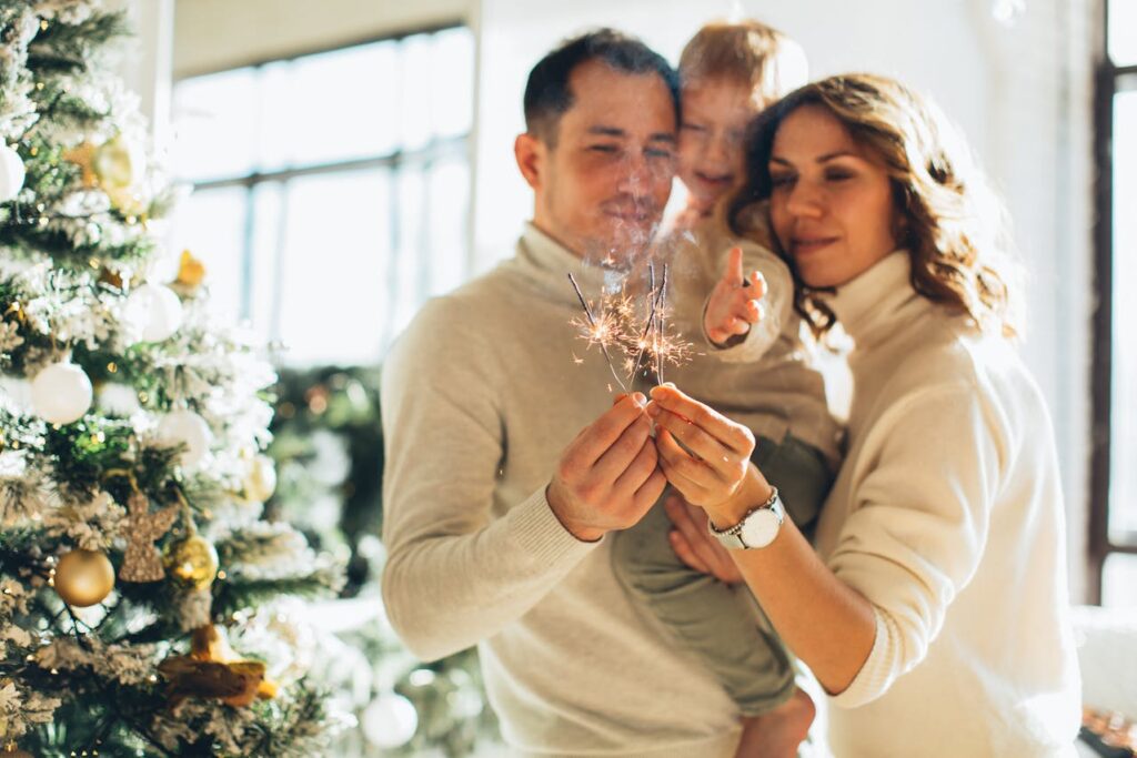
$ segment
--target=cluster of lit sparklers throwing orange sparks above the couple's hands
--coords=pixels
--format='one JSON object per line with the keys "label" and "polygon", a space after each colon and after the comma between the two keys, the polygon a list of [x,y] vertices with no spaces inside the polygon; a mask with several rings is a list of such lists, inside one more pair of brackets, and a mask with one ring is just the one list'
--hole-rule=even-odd
{"label": "cluster of lit sparklers throwing orange sparks above the couple's hands", "polygon": [[[645,358],[652,366],[655,382],[659,383],[663,382],[663,365],[665,363],[678,366],[690,355],[690,343],[666,333],[667,273],[667,266],[664,265],[662,282],[657,285],[655,265],[648,264],[649,288],[646,300],[648,314],[642,326],[632,298],[623,292],[601,298],[598,307],[594,310],[584,299],[575,277],[568,274],[568,281],[572,282],[576,298],[584,311],[583,318],[574,318],[572,323],[580,328],[581,336],[588,341],[589,345],[596,344],[600,348],[608,364],[608,370],[612,372],[624,392],[628,391],[628,385],[636,381]],[[611,348],[619,348],[625,355],[622,368],[628,380],[626,384],[616,372]]]}

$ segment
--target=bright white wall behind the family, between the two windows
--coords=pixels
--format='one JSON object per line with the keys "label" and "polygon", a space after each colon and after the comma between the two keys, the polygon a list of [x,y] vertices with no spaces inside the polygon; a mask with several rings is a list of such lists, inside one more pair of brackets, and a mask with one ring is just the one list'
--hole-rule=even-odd
{"label": "bright white wall behind the family, between the two windows", "polygon": [[[517,175],[530,67],[558,40],[612,25],[672,60],[700,24],[740,8],[796,38],[811,74],[894,75],[930,94],[1002,190],[1032,278],[1024,353],[1054,415],[1071,516],[1085,544],[1089,398],[1090,0],[1027,0],[1010,25],[991,0],[482,0],[472,266],[509,255],[532,199]],[[1080,561],[1073,590],[1081,595]]]}

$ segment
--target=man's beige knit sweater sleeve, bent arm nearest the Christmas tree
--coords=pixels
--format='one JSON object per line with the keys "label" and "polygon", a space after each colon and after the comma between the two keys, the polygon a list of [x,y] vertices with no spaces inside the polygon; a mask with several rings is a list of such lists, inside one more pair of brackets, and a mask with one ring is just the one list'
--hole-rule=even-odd
{"label": "man's beige knit sweater sleeve, bent arm nearest the Christmas tree", "polygon": [[383,601],[428,661],[520,618],[597,544],[561,525],[545,485],[492,517],[507,367],[465,318],[429,306],[383,367]]}

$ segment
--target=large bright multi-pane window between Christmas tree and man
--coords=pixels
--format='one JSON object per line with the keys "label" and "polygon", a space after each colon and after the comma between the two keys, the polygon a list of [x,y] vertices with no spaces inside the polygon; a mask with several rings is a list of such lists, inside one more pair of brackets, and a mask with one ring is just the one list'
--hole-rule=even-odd
{"label": "large bright multi-pane window between Christmas tree and man", "polygon": [[474,44],[463,26],[174,86],[171,228],[221,315],[290,366],[366,365],[466,276]]}

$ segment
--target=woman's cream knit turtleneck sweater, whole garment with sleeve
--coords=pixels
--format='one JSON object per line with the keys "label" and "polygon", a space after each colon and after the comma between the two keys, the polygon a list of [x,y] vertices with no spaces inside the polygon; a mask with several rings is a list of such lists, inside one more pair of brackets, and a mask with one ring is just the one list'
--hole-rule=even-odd
{"label": "woman's cream knit turtleneck sweater, whole garment with sleeve", "polygon": [[1067,755],[1079,676],[1049,416],[1011,345],[910,273],[895,252],[830,300],[854,390],[818,550],[877,615],[833,752]]}

